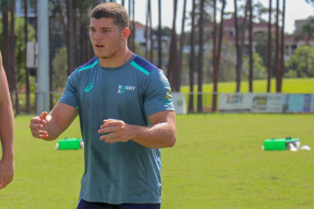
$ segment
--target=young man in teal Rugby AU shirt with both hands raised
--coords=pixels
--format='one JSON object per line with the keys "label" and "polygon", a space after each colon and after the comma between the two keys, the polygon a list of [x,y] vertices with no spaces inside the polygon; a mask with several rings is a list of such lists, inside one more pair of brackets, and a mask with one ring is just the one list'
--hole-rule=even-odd
{"label": "young man in teal Rugby AU shirt with both hands raised", "polygon": [[129,19],[118,3],[90,18],[96,57],[68,78],[57,105],[32,118],[35,138],[56,139],[79,115],[85,172],[78,208],[160,208],[160,148],[176,142],[165,74],[127,48]]}

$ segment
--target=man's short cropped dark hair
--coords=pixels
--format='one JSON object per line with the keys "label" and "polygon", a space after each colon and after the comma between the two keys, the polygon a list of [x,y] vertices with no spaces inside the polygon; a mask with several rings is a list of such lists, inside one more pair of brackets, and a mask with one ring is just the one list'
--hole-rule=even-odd
{"label": "man's short cropped dark hair", "polygon": [[120,29],[128,28],[130,22],[127,10],[121,4],[114,2],[99,4],[93,9],[90,18],[112,18],[113,23]]}

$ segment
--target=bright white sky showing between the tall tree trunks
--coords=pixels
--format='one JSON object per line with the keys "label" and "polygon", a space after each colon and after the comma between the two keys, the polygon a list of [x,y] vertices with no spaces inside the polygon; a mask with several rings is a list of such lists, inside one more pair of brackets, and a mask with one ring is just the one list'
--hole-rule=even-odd
{"label": "bright white sky showing between the tall tree trunks", "polygon": [[[227,5],[225,7],[226,12],[233,12],[234,5],[233,0],[226,0]],[[257,0],[252,0],[257,1]],[[261,3],[268,7],[269,0],[260,0]],[[121,3],[121,0],[116,0],[117,3]],[[125,7],[128,9],[128,0],[125,0]],[[183,0],[178,0],[178,10],[176,18],[176,32],[181,33],[181,21],[182,21],[182,11],[183,11]],[[244,2],[244,1],[242,1]],[[282,9],[282,0],[279,2],[279,8]],[[158,26],[158,0],[151,0],[152,8],[152,26],[157,28]],[[146,7],[147,0],[135,0],[135,15],[134,19],[137,22],[146,24]],[[276,7],[276,0],[272,0],[272,7]],[[191,11],[192,0],[187,0],[187,14]],[[221,10],[221,5],[218,5],[218,10]],[[314,15],[314,7],[307,4],[305,0],[286,0],[286,13],[285,13],[285,25],[284,31],[291,34],[294,31],[294,21],[295,19],[306,19],[307,17]],[[168,26],[172,28],[172,16],[173,16],[173,0],[161,0],[161,25],[162,27]],[[132,17],[131,17],[132,19]],[[217,20],[219,21],[219,14],[217,14]],[[268,16],[266,17],[268,19]],[[189,26],[186,24],[186,30]]]}

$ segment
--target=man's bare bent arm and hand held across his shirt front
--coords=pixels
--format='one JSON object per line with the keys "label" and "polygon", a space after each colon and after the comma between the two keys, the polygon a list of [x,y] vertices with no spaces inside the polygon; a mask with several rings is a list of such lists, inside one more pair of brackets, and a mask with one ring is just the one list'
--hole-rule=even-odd
{"label": "man's bare bent arm and hand held across his shirt front", "polygon": [[176,113],[165,110],[148,117],[150,126],[129,125],[121,120],[108,119],[98,133],[110,133],[100,137],[107,143],[126,142],[132,139],[148,148],[172,147],[176,143]]}

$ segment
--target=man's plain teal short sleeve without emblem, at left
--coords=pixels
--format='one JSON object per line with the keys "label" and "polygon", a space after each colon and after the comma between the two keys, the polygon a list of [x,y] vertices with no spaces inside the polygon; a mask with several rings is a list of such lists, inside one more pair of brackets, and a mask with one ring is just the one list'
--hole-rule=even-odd
{"label": "man's plain teal short sleeve without emblem, at left", "polygon": [[78,107],[78,96],[77,96],[77,72],[73,71],[68,77],[67,83],[64,88],[64,92],[59,102],[68,104],[72,107]]}

